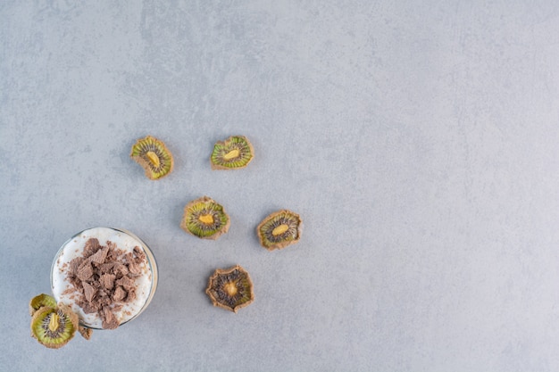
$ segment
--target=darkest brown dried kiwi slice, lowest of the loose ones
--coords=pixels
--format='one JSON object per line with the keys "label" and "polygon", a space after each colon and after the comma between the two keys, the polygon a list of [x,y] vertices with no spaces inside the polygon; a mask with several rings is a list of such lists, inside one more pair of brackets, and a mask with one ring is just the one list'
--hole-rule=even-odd
{"label": "darkest brown dried kiwi slice, lowest of the loose ones", "polygon": [[240,266],[216,269],[210,277],[205,293],[213,306],[237,312],[254,301],[253,281]]}

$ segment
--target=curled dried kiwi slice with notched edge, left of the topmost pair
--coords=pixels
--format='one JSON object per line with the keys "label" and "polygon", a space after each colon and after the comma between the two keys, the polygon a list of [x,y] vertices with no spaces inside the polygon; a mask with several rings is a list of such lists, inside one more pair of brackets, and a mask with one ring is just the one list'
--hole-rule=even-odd
{"label": "curled dried kiwi slice with notched edge, left of the topmost pair", "polygon": [[172,155],[162,141],[153,136],[140,138],[132,146],[130,157],[146,170],[146,177],[159,179],[171,173]]}

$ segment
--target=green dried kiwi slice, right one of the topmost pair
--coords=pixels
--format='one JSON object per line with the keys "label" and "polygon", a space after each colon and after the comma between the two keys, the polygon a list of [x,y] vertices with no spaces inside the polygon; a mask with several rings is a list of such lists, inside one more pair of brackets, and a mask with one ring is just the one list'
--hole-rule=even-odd
{"label": "green dried kiwi slice, right one of the topmost pair", "polygon": [[230,136],[225,141],[218,141],[213,145],[210,156],[212,169],[245,168],[253,160],[253,145],[246,136]]}

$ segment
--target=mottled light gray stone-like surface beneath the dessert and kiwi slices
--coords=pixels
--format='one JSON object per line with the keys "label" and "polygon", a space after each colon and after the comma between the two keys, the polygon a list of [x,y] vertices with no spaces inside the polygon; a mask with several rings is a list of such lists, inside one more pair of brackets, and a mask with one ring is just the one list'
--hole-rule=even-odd
{"label": "mottled light gray stone-like surface beneath the dessert and kiwi slices", "polygon": [[[559,370],[555,1],[0,2],[0,369]],[[157,136],[173,173],[129,159]],[[246,169],[213,143],[248,136]],[[179,227],[202,195],[215,242]],[[255,227],[305,221],[282,251]],[[123,227],[154,302],[59,351],[29,337],[59,246]],[[240,264],[256,300],[204,293]]]}

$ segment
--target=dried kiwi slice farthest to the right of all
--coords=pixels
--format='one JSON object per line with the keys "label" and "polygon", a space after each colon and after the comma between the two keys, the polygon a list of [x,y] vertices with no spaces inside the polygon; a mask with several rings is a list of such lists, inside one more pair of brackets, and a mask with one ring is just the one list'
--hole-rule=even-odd
{"label": "dried kiwi slice farthest to the right of all", "polygon": [[301,238],[302,221],[292,211],[276,211],[256,227],[260,244],[269,251],[296,244]]}

